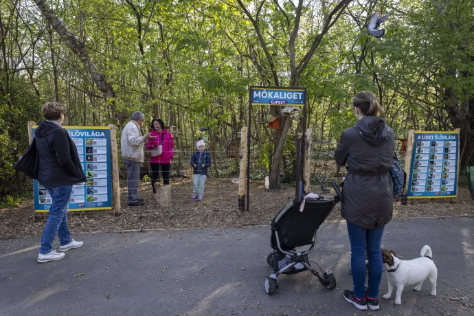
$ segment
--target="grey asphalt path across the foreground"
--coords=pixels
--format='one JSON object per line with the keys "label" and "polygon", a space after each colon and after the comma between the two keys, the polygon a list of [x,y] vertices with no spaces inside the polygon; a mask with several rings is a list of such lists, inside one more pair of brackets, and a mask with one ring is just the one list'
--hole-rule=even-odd
{"label": "grey asphalt path across the foreground", "polygon": [[[0,240],[0,315],[367,315],[343,300],[350,288],[345,223],[324,224],[311,260],[335,271],[328,291],[309,272],[264,293],[269,227],[81,234],[85,245],[38,264],[38,238]],[[433,249],[438,297],[406,289],[370,315],[474,315],[474,218],[392,221],[383,246],[399,256]],[[57,240],[56,240],[57,242]],[[58,246],[56,246],[58,247]],[[83,274],[82,274],[83,273]],[[387,290],[385,276],[381,295]]]}

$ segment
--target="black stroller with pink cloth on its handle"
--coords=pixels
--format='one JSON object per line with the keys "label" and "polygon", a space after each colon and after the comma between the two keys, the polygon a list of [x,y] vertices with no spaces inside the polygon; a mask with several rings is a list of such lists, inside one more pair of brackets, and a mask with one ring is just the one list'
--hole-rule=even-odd
{"label": "black stroller with pink cloth on its handle", "polygon": [[[271,247],[273,252],[267,256],[267,263],[273,268],[273,273],[265,278],[265,292],[268,295],[275,293],[279,284],[280,274],[295,274],[306,270],[311,271],[327,289],[336,287],[336,278],[332,271],[326,269],[321,273],[308,260],[308,253],[315,249],[317,229],[330,214],[336,203],[341,201],[341,191],[334,181],[334,196],[319,196],[317,199],[306,199],[304,209],[300,212],[303,201],[302,183],[295,199],[286,205],[271,220]],[[311,245],[306,251],[297,251],[296,247]]]}

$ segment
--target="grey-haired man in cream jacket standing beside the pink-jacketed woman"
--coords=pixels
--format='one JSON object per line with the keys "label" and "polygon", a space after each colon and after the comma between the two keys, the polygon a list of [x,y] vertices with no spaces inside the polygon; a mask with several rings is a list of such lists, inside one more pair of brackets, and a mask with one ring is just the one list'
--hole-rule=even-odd
{"label": "grey-haired man in cream jacket standing beside the pink-jacketed woman", "polygon": [[144,201],[138,199],[138,188],[140,180],[140,165],[144,159],[144,143],[150,136],[150,133],[142,135],[141,127],[145,115],[142,112],[132,114],[132,120],[128,122],[122,132],[122,159],[126,166],[127,187],[128,187],[128,206],[145,205]]}

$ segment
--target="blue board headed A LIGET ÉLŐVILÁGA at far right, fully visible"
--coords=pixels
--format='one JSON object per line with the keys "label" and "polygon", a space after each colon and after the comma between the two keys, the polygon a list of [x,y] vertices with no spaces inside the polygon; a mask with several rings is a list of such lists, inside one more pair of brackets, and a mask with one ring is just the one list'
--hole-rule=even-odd
{"label": "blue board headed A LIGET \u00c9L\u0150VIL\u00c1GA at far right, fully visible", "polygon": [[415,132],[408,198],[453,198],[458,190],[459,132]]}

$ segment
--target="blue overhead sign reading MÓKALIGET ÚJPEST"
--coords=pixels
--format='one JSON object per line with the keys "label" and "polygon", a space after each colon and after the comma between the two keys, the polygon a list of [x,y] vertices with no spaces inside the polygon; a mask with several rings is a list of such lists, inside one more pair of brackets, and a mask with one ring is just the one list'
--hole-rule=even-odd
{"label": "blue overhead sign reading M\u00d3KALIGET \u00daJPEST", "polygon": [[250,103],[253,105],[304,106],[306,89],[249,87]]}

